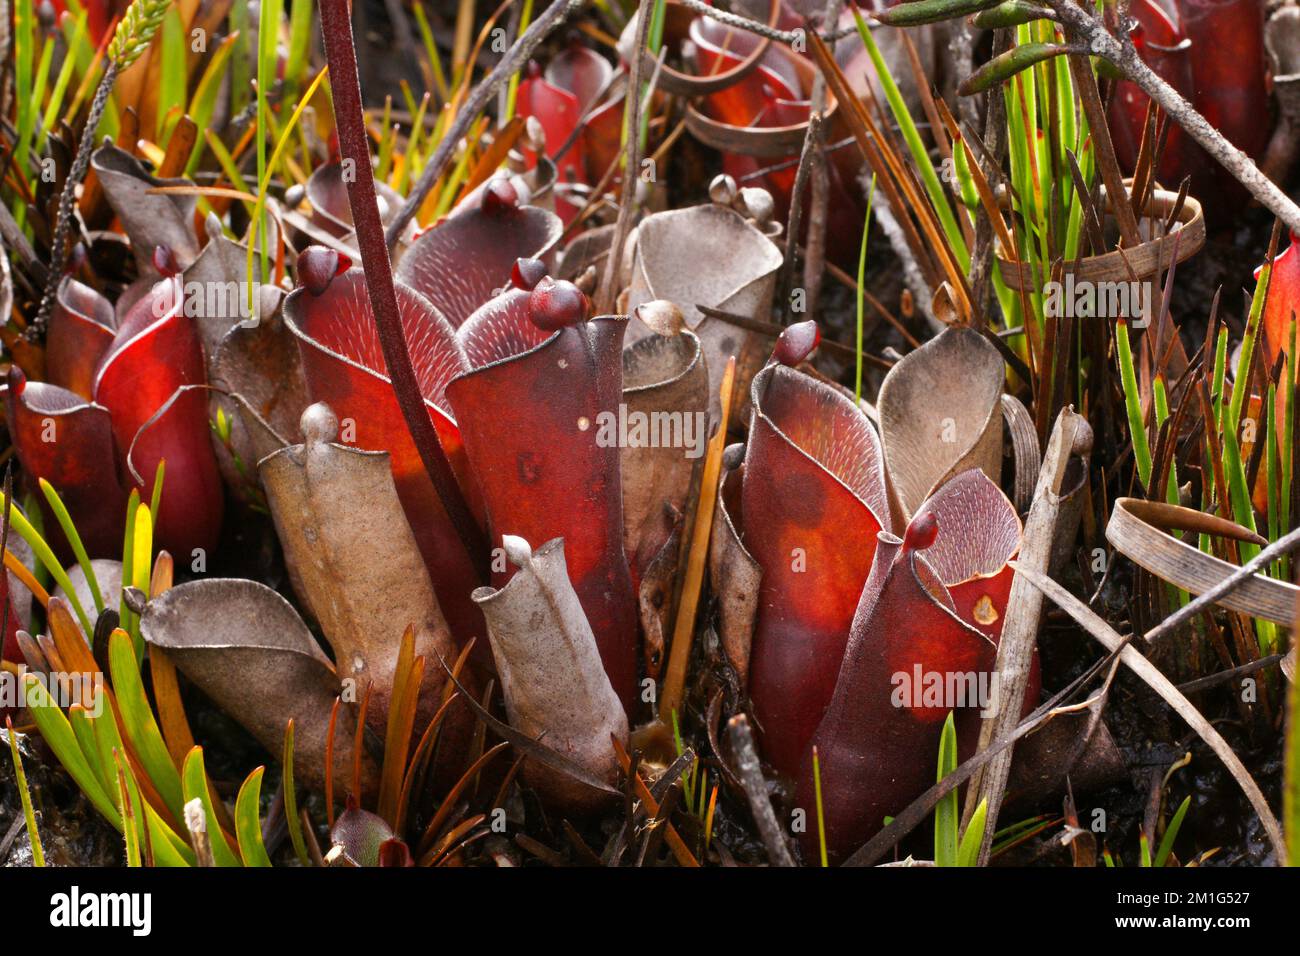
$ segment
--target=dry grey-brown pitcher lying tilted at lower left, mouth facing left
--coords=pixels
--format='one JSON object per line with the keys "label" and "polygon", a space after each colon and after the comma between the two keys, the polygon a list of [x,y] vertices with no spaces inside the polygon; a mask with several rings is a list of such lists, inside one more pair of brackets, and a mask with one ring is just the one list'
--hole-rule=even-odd
{"label": "dry grey-brown pitcher lying tilted at lower left, mouth facing left", "polygon": [[[209,578],[178,584],[140,615],[140,635],[269,753],[283,748],[294,721],[295,773],[309,787],[325,782],[330,711],[338,675],[290,604],[256,581]],[[356,717],[341,710],[334,732],[334,778],[351,779]],[[361,754],[363,797],[373,796],[378,767]]]}

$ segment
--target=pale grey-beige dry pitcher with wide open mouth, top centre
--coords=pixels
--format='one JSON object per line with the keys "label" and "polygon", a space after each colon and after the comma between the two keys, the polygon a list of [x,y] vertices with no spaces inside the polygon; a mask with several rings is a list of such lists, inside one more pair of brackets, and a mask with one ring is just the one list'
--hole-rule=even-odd
{"label": "pale grey-beige dry pitcher with wide open mouth, top centre", "polygon": [[[686,328],[699,337],[708,368],[708,411],[716,419],[718,386],[727,359],[736,356],[732,418],[741,412],[749,382],[763,362],[766,337],[706,317],[697,306],[767,320],[781,267],[781,252],[734,209],[719,203],[670,209],[637,226],[628,287],[628,310],[654,299],[676,303]],[[633,323],[628,342],[653,334]]]}

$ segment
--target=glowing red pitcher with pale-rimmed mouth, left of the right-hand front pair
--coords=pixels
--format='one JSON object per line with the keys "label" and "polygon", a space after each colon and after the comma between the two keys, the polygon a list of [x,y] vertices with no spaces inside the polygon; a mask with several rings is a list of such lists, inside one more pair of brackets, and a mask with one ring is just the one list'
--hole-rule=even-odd
{"label": "glowing red pitcher with pale-rimmed mouth, left of the right-hand front pair", "polygon": [[793,777],[888,529],[884,457],[850,398],[793,368],[759,372],[751,401],[744,541],[763,574],[749,684],[764,753]]}

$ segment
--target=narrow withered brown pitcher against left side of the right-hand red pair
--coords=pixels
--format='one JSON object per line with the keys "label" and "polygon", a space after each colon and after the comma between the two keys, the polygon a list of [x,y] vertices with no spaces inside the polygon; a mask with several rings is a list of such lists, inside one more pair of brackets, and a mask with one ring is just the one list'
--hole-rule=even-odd
{"label": "narrow withered brown pitcher against left side of the right-hand red pair", "polygon": [[754,641],[763,568],[745,550],[738,528],[744,527],[741,488],[745,483],[745,447],[732,445],[723,453],[718,502],[708,541],[708,581],[718,597],[718,636],[723,653],[740,685],[749,684],[749,656]]}

